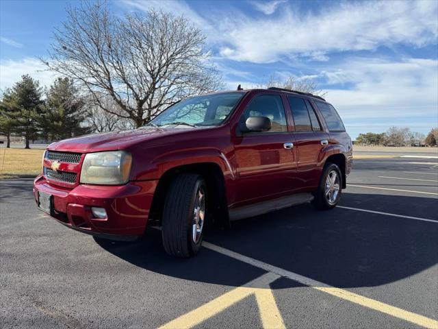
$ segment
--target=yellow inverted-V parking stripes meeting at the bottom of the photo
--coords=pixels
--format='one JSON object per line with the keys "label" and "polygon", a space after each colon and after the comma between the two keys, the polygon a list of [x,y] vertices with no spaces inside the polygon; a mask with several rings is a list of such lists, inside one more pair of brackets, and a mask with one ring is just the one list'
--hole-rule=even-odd
{"label": "yellow inverted-V parking stripes meeting at the bottom of the photo", "polygon": [[181,315],[181,317],[177,317],[177,319],[164,324],[159,329],[193,328],[249,295],[255,295],[263,328],[283,329],[285,328],[283,318],[279,308],[276,306],[274,295],[272,295],[272,291],[269,288],[269,284],[278,278],[280,276],[275,273],[263,274],[263,276],[248,282],[244,286],[224,293],[214,300],[207,302],[207,304],[191,310],[189,313]]}

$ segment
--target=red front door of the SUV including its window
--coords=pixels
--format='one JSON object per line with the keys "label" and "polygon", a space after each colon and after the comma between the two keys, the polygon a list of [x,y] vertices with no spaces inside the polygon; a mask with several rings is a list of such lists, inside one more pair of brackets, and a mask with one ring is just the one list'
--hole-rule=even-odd
{"label": "red front door of the SUV including its window", "polygon": [[294,134],[289,131],[283,97],[255,95],[240,121],[257,116],[268,117],[272,127],[268,132],[245,132],[235,138],[236,206],[285,195],[298,186]]}

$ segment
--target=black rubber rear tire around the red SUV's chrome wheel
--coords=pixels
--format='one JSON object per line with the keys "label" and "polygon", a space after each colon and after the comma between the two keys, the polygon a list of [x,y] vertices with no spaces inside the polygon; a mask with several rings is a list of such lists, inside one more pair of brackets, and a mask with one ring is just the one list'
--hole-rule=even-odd
{"label": "black rubber rear tire around the red SUV's chrome wheel", "polygon": [[[332,175],[333,172],[337,175],[337,186],[339,190],[338,193],[333,195],[333,198],[326,195],[326,182],[327,177],[329,175]],[[342,173],[339,167],[337,167],[334,163],[327,163],[324,166],[324,171],[322,172],[320,184],[318,185],[318,189],[313,193],[313,196],[315,197],[312,201],[313,206],[319,210],[329,210],[335,208],[335,206],[339,203],[339,200],[341,199],[342,195]]]}

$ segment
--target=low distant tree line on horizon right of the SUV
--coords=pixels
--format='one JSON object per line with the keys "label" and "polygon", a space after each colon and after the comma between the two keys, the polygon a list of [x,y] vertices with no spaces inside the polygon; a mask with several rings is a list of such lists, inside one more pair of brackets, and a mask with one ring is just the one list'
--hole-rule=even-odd
{"label": "low distant tree line on horizon right of the SUV", "polygon": [[367,132],[359,134],[355,143],[359,145],[371,146],[435,146],[437,145],[438,128],[434,128],[424,136],[420,132],[411,132],[406,127],[390,127],[387,132],[376,134]]}

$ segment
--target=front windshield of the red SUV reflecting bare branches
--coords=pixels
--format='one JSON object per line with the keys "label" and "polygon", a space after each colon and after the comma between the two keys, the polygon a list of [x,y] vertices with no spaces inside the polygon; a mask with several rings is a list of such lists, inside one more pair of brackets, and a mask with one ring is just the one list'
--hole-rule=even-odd
{"label": "front windshield of the red SUV reflecting bare branches", "polygon": [[220,125],[229,117],[243,95],[244,93],[220,93],[190,97],[170,106],[148,125]]}

